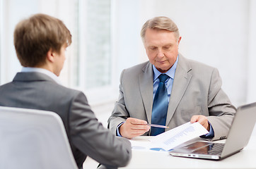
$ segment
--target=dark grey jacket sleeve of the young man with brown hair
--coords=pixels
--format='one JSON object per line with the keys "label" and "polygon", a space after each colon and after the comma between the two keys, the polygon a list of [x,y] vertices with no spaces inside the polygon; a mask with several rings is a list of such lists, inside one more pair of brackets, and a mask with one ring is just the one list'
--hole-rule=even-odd
{"label": "dark grey jacket sleeve of the young man with brown hair", "polygon": [[129,140],[115,137],[98,123],[83,93],[74,98],[70,112],[71,142],[77,149],[108,168],[127,165],[132,156]]}

